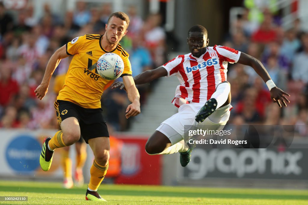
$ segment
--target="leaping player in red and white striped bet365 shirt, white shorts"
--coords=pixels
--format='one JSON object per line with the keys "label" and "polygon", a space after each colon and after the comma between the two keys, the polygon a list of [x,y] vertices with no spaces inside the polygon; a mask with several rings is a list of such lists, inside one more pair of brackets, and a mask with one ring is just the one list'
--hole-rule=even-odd
{"label": "leaping player in red and white striped bet365 shirt, white shorts", "polygon": [[[288,95],[275,86],[261,62],[243,52],[215,45],[208,47],[207,30],[195,25],[188,31],[187,44],[191,53],[179,55],[154,70],[145,71],[136,77],[136,85],[148,83],[163,76],[176,75],[180,85],[176,88],[172,103],[179,108],[156,129],[148,139],[145,150],[150,155],[180,153],[180,163],[185,167],[194,146],[184,141],[184,125],[215,125],[222,129],[229,119],[231,106],[230,83],[227,80],[228,62],[251,66],[264,80],[271,99],[281,107],[290,102]],[[114,83],[112,88],[125,86]],[[187,139],[185,139],[187,140]]]}

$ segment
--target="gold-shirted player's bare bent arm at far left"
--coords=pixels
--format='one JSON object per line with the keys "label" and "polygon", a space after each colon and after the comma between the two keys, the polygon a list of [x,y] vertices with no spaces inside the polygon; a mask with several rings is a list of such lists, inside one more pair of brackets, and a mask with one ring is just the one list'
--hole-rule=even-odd
{"label": "gold-shirted player's bare bent arm at far left", "polygon": [[52,54],[52,56],[50,57],[46,66],[42,83],[34,91],[36,97],[39,98],[40,100],[43,99],[43,97],[46,95],[51,76],[54,73],[57,66],[59,65],[60,60],[66,58],[67,56],[68,55],[66,53],[66,45],[63,45],[61,48],[56,50],[56,52]]}

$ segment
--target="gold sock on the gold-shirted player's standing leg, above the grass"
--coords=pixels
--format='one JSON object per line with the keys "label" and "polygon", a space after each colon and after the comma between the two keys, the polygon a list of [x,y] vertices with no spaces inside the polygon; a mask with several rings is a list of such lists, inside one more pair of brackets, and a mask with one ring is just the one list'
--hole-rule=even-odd
{"label": "gold sock on the gold-shirted player's standing leg, above the grass", "polygon": [[90,183],[89,183],[89,188],[92,190],[97,190],[100,183],[102,183],[108,169],[108,164],[106,166],[101,166],[97,164],[97,162],[93,161],[93,164],[90,169]]}

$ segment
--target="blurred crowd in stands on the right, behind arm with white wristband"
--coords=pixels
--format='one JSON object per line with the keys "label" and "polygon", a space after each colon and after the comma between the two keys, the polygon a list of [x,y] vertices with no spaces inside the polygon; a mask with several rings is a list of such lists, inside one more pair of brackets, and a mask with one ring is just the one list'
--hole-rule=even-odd
{"label": "blurred crowd in stands on the right, behind arm with white wristband", "polygon": [[299,134],[307,136],[308,33],[301,30],[299,19],[284,29],[278,14],[263,8],[253,19],[252,10],[245,8],[223,45],[260,60],[276,85],[291,95],[291,103],[279,109],[253,68],[234,64],[228,72],[234,107],[229,123],[298,125]]}

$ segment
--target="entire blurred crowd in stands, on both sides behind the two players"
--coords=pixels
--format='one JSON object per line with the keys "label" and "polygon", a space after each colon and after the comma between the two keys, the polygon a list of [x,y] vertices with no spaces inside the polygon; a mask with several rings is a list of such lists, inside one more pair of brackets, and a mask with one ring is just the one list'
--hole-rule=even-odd
{"label": "entire blurred crowd in stands, on both sides behind the two players", "polygon": [[[230,65],[228,81],[234,109],[229,123],[307,125],[308,33],[301,30],[298,19],[292,28],[282,28],[277,10],[262,8],[257,17],[251,11],[251,8],[244,9],[230,25],[231,32],[221,45],[260,60],[276,85],[291,95],[291,103],[279,109],[253,68]],[[133,75],[164,64],[167,35],[161,27],[161,16],[149,14],[143,19],[135,6],[125,12],[130,17],[130,25],[121,44],[130,54]],[[57,128],[54,79],[67,72],[71,58],[61,60],[48,94],[40,101],[34,90],[41,83],[47,62],[57,48],[74,37],[103,34],[111,13],[109,3],[89,8],[86,3],[77,2],[74,12],[67,11],[60,18],[45,4],[43,16],[35,18],[31,5],[12,15],[0,2],[0,127]],[[144,103],[150,88],[140,85],[138,89]],[[125,91],[108,89],[103,94],[106,120],[115,131],[129,127],[124,114],[128,103]],[[307,133],[306,129],[301,131],[303,136]]]}

